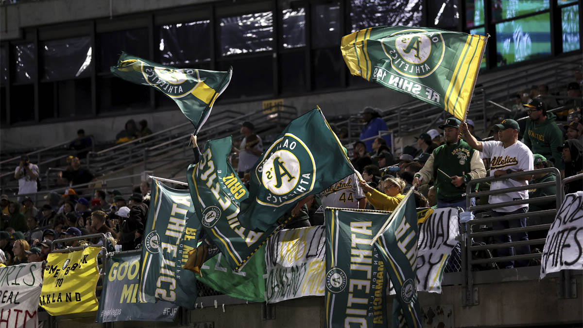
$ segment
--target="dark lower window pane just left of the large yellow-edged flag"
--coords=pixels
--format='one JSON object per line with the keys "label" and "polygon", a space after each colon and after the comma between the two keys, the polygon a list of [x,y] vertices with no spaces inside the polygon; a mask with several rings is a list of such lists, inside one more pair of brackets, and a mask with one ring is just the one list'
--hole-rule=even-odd
{"label": "dark lower window pane just left of the large yellow-edged flag", "polygon": [[314,89],[330,89],[342,87],[342,66],[345,65],[342,54],[338,48],[326,48],[314,50],[313,85]]}

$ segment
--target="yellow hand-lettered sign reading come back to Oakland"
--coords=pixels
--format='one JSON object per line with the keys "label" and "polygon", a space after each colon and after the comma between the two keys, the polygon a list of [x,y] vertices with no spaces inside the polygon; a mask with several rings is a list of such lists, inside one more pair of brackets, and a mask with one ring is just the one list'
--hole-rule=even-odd
{"label": "yellow hand-lettered sign reading come back to Oakland", "polygon": [[48,254],[40,306],[52,316],[96,311],[99,247],[72,253]]}

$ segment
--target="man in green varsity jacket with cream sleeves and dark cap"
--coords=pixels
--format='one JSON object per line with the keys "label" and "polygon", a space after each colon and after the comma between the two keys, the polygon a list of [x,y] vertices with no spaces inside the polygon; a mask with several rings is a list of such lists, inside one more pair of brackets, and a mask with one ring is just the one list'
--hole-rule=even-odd
{"label": "man in green varsity jacket with cream sleeves and dark cap", "polygon": [[457,118],[450,117],[439,126],[444,130],[445,144],[431,153],[413,179],[413,186],[429,183],[433,179],[437,188],[437,208],[461,207],[466,210],[465,184],[486,176],[480,153],[458,139],[460,123]]}

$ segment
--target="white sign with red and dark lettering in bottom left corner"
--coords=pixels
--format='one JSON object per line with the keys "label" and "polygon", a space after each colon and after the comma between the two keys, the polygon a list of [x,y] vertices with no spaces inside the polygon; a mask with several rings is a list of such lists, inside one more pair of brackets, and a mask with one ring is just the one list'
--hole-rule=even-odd
{"label": "white sign with red and dark lettering in bottom left corner", "polygon": [[43,286],[41,263],[0,268],[0,327],[38,327],[38,296]]}

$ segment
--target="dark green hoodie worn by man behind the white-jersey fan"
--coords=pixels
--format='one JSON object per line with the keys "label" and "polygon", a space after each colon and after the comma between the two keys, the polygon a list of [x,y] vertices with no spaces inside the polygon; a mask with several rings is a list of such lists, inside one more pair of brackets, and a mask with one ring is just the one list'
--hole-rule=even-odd
{"label": "dark green hoodie worn by man behind the white-jersey fan", "polygon": [[532,153],[539,153],[548,160],[554,162],[554,167],[562,170],[565,168],[563,155],[557,151],[557,147],[563,145],[563,132],[555,123],[557,116],[547,113],[543,123],[535,123],[530,118],[526,119],[524,130],[524,144]]}

